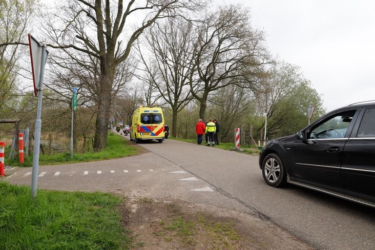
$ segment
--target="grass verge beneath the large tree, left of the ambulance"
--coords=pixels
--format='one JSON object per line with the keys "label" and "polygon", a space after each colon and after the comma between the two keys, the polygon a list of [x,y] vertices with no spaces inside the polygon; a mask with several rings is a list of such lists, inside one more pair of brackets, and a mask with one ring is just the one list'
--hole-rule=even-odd
{"label": "grass verge beneath the large tree, left of the ambulance", "polygon": [[[6,148],[6,150],[9,150]],[[116,133],[108,133],[108,143],[107,146],[99,152],[86,152],[86,153],[73,153],[73,157],[70,157],[70,152],[57,153],[52,155],[40,155],[39,165],[60,165],[69,163],[79,163],[79,162],[92,162],[101,161],[114,158],[121,158],[125,156],[137,155],[139,147],[135,146],[129,140]],[[5,156],[8,155],[5,152]],[[25,157],[23,164],[18,161],[9,160],[5,157],[5,165],[10,166],[20,166],[20,167],[32,167],[33,157]]]}

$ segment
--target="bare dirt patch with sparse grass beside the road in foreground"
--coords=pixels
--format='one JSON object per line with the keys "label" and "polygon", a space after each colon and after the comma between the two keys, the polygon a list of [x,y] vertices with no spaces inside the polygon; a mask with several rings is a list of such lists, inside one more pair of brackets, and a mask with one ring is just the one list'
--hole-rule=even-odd
{"label": "bare dirt patch with sparse grass beside the road in foreground", "polygon": [[274,224],[235,210],[131,197],[122,224],[140,250],[313,250]]}

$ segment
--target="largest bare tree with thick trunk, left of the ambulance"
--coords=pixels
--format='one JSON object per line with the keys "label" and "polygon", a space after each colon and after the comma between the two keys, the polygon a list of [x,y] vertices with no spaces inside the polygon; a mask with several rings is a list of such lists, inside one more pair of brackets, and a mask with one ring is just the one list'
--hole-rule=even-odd
{"label": "largest bare tree with thick trunk, left of the ambulance", "polygon": [[[96,149],[107,144],[115,72],[128,59],[134,42],[158,19],[181,15],[199,3],[200,0],[129,0],[124,5],[123,0],[75,0],[59,7],[55,17],[49,19],[44,36],[53,43],[48,44],[50,47],[63,49],[82,66],[86,60],[97,61],[97,72],[90,80],[97,99]],[[134,24],[132,17],[140,16],[143,21],[133,31],[127,29]]]}

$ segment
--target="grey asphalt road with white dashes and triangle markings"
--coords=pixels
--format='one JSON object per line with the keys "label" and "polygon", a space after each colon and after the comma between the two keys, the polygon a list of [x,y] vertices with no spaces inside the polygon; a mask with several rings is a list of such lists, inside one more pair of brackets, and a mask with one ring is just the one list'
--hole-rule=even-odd
{"label": "grey asphalt road with white dashes and triangle markings", "polygon": [[[116,160],[40,167],[38,187],[207,203],[256,214],[317,249],[375,249],[373,208],[301,187],[269,187],[263,181],[258,157],[169,139],[139,146],[149,152]],[[5,179],[30,185],[30,172],[31,168],[8,169]]]}

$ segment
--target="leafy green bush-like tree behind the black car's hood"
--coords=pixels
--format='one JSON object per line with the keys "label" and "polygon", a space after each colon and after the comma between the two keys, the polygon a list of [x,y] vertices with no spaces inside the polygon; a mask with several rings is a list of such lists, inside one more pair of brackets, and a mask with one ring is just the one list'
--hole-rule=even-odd
{"label": "leafy green bush-like tree behind the black car's hood", "polygon": [[[258,93],[261,114],[267,111],[267,139],[298,132],[308,125],[307,109],[315,106],[314,117],[324,114],[321,96],[306,80],[298,66],[279,62],[269,70],[269,75]],[[261,127],[264,129],[265,119]]]}

